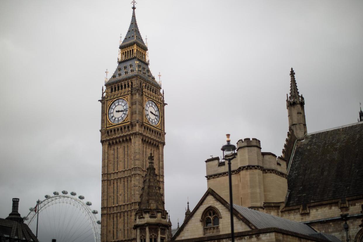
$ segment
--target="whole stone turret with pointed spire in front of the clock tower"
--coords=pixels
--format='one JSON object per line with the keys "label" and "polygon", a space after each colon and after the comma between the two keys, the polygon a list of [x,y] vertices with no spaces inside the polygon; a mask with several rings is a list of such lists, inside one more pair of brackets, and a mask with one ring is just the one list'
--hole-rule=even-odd
{"label": "whole stone turret with pointed spire in front of the clock tower", "polygon": [[155,173],[154,156],[150,152],[143,188],[141,190],[139,209],[136,211],[137,240],[140,242],[164,242],[170,240],[168,213],[164,208],[160,185]]}

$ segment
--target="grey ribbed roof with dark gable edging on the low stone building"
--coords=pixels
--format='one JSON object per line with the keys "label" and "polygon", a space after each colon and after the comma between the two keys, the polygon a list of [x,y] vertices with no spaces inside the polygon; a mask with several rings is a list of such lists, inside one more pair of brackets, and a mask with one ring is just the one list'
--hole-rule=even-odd
{"label": "grey ribbed roof with dark gable edging on the low stone building", "polygon": [[[198,204],[195,206],[189,217],[184,221],[183,225],[181,225],[180,229],[174,234],[172,240],[175,240],[176,237],[180,234],[181,231],[183,231],[184,227],[187,225],[188,221],[191,220],[193,215],[196,213],[198,208],[203,204],[203,201],[207,198],[208,195],[213,196],[216,198],[217,201],[219,201],[221,204],[223,204],[228,210],[229,210],[229,204],[226,200],[224,200],[219,194],[217,194],[213,189],[208,188],[207,192],[204,193],[201,200],[198,202]],[[236,204],[233,204],[233,213],[234,215],[239,218],[241,221],[243,221],[248,227],[250,227],[251,230],[258,230],[258,229],[268,229],[268,228],[276,228],[296,234],[302,234],[302,235],[308,235],[316,237],[315,234],[317,234],[317,231],[315,231],[310,226],[298,223],[295,221],[290,221],[285,218],[273,216],[271,214],[266,214],[259,212],[254,209],[242,207]],[[320,234],[320,233],[318,233]],[[333,236],[334,237],[334,236]],[[322,238],[322,237],[321,237]],[[334,237],[334,239],[325,238],[326,241],[339,241],[337,238]]]}

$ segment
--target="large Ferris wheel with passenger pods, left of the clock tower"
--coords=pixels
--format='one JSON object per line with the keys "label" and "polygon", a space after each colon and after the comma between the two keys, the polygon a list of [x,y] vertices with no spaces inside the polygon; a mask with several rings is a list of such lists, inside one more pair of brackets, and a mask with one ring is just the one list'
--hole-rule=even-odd
{"label": "large Ferris wheel with passenger pods, left of the clock tower", "polygon": [[[26,223],[33,231],[36,229],[36,220],[38,213],[39,241],[50,241],[51,238],[57,239],[59,242],[70,241],[95,241],[99,242],[100,225],[96,222],[97,218],[90,209],[90,205],[86,205],[82,199],[63,194],[55,194],[55,196],[46,196],[46,199],[40,201],[37,213],[31,209],[26,216]],[[83,197],[84,198],[84,197]],[[35,231],[34,231],[35,232]],[[92,236],[93,235],[93,236]]]}

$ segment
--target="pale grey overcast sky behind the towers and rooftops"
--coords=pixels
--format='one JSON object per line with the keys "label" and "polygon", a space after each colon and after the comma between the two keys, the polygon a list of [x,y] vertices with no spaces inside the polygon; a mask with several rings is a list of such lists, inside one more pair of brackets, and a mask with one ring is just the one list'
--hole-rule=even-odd
{"label": "pale grey overcast sky behind the towers and rooftops", "polygon": [[[101,206],[101,88],[117,67],[127,1],[1,0],[0,217],[53,191]],[[136,19],[165,91],[165,208],[173,227],[207,190],[225,134],[281,155],[290,68],[307,131],[357,122],[363,1],[146,1]],[[99,214],[98,214],[99,215]],[[99,217],[99,216],[98,216]]]}

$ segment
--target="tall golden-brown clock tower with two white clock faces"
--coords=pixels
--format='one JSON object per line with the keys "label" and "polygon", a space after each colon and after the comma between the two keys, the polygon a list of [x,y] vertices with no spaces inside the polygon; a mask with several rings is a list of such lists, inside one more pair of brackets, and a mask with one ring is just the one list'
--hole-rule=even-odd
{"label": "tall golden-brown clock tower with two white clock faces", "polygon": [[[134,2],[134,1],[133,1]],[[135,212],[150,152],[164,200],[164,94],[149,69],[135,18],[101,101],[101,241],[136,241]]]}

